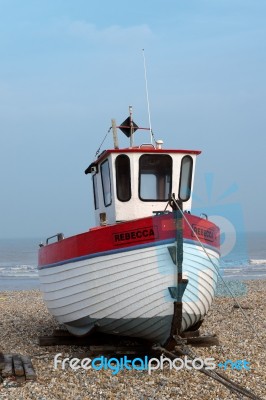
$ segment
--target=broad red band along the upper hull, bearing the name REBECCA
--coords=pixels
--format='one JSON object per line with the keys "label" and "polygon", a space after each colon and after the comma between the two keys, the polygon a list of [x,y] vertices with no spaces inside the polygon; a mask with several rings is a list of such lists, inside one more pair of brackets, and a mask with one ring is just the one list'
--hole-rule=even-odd
{"label": "broad red band along the upper hull, bearing the name REBECCA", "polygon": [[[186,214],[193,231],[183,220],[183,240],[197,242],[217,252],[220,249],[220,231],[212,222]],[[120,224],[93,228],[88,232],[43,246],[39,250],[39,268],[62,265],[73,260],[130,251],[137,248],[173,243],[176,225],[173,214],[142,218]]]}

